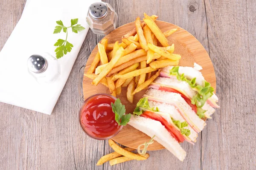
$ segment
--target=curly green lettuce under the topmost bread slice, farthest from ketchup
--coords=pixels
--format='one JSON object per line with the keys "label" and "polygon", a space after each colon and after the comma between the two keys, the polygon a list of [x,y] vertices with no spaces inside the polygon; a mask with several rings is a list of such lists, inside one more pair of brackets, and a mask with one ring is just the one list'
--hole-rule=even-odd
{"label": "curly green lettuce under the topmost bread slice, farthest from ketchup", "polygon": [[211,84],[209,82],[204,81],[204,87],[202,87],[201,85],[196,85],[196,77],[189,80],[184,77],[184,74],[180,75],[179,66],[173,67],[170,70],[170,75],[176,76],[177,80],[187,82],[191,88],[194,88],[198,92],[198,94],[191,99],[191,103],[193,105],[196,105],[198,108],[203,107],[207,99],[213,95],[214,88],[211,87]]}

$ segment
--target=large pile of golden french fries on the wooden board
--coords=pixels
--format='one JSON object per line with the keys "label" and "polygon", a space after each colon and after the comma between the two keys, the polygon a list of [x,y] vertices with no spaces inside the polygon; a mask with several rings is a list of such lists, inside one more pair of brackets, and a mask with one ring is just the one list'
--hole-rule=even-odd
{"label": "large pile of golden french fries on the wooden board", "polygon": [[[174,44],[169,45],[166,37],[177,29],[162,32],[154,22],[156,15],[149,17],[144,13],[135,28],[122,36],[122,42],[108,44],[104,38],[98,44],[98,53],[90,65],[86,77],[109,88],[111,95],[120,95],[127,87],[127,99],[133,102],[134,94],[145,89],[160,74],[160,68],[178,65],[180,55],[173,54]],[[157,46],[157,44],[162,46]]]}

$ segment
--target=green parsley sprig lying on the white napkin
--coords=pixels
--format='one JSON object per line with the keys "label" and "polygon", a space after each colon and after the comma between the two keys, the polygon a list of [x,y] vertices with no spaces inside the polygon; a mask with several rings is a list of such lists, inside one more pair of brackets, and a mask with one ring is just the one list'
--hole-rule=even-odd
{"label": "green parsley sprig lying on the white napkin", "polygon": [[70,52],[72,50],[73,44],[67,41],[67,28],[72,28],[72,31],[74,33],[78,33],[79,31],[84,30],[85,28],[81,26],[78,23],[78,18],[71,20],[71,26],[66,27],[63,25],[62,21],[56,21],[58,26],[55,26],[55,29],[53,31],[53,34],[58,34],[63,30],[64,33],[66,33],[66,40],[58,39],[57,42],[54,44],[57,48],[55,49],[56,52],[56,58],[59,59],[64,56],[64,54],[67,54],[67,52]]}

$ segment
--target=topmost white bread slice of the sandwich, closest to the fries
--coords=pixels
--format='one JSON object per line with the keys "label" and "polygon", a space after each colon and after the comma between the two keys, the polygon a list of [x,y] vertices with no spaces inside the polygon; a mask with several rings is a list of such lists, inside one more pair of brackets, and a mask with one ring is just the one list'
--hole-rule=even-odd
{"label": "topmost white bread slice of the sandwich, closest to the fries", "polygon": [[[163,72],[170,73],[170,70],[173,66],[167,66],[163,68]],[[193,79],[196,77],[196,84],[201,85],[204,87],[204,77],[200,71],[197,71],[195,68],[192,67],[179,67],[179,74],[184,74],[185,77],[188,79]]]}

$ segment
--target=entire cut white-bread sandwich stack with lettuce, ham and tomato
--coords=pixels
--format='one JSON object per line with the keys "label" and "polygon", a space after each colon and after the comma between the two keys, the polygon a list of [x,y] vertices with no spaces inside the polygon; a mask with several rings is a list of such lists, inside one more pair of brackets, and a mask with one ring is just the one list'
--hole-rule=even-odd
{"label": "entire cut white-bread sandwich stack with lettuce, ham and tomato", "polygon": [[180,161],[186,152],[181,142],[194,144],[198,133],[219,106],[218,97],[200,71],[168,66],[154,80],[137,103],[129,125],[162,144]]}

